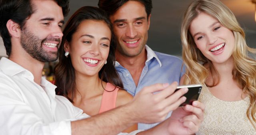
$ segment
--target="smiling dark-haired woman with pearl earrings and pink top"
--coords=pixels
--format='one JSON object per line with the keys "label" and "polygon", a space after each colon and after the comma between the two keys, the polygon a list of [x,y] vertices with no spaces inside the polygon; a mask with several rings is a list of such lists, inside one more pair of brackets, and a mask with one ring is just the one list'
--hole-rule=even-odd
{"label": "smiling dark-haired woman with pearl earrings and pink top", "polygon": [[[67,97],[88,115],[96,115],[128,103],[114,67],[116,43],[103,10],[85,6],[67,22],[56,66],[56,93]],[[120,89],[120,90],[118,90]],[[124,132],[137,129],[137,125]]]}

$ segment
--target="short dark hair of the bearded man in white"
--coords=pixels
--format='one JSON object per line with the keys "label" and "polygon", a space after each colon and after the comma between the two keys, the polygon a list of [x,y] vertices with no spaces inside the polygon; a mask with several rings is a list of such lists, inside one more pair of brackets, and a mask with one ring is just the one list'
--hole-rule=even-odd
{"label": "short dark hair of the bearded man in white", "polygon": [[[69,12],[69,0],[54,0],[62,7],[63,16]],[[0,36],[4,41],[6,54],[10,56],[12,44],[11,37],[6,27],[8,20],[20,25],[20,29],[26,23],[26,19],[34,13],[31,0],[0,0]]]}

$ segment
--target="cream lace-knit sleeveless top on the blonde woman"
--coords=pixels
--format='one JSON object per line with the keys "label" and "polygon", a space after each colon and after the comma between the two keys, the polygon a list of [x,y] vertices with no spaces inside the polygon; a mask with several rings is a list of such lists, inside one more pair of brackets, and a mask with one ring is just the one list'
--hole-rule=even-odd
{"label": "cream lace-knit sleeveless top on the blonde woman", "polygon": [[204,121],[196,135],[256,135],[256,130],[246,116],[249,97],[240,101],[222,101],[204,86],[199,101],[206,108]]}

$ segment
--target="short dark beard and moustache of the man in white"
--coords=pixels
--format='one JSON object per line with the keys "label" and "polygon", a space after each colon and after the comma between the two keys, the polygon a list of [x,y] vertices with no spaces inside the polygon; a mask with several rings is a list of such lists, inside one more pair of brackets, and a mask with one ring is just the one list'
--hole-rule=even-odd
{"label": "short dark beard and moustache of the man in white", "polygon": [[[47,52],[42,47],[44,42],[55,41],[60,44],[59,38],[45,38],[40,40],[38,36],[27,30],[25,27],[22,30],[20,44],[22,48],[34,59],[40,62],[53,62],[58,59],[58,51]],[[57,45],[58,46],[58,45]]]}

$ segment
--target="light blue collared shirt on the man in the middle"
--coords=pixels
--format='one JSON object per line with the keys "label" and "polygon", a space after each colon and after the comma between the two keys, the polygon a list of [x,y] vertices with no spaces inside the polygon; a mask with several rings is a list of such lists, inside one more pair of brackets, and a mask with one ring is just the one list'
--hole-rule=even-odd
{"label": "light blue collared shirt on the man in the middle", "polygon": [[[184,66],[182,67],[182,60],[175,56],[154,52],[151,48],[146,45],[147,60],[140,79],[138,86],[136,87],[132,75],[128,69],[124,68],[118,62],[116,62],[116,70],[124,83],[124,89],[126,89],[133,96],[136,95],[140,89],[145,86],[152,85],[155,83],[172,83],[174,81],[180,82],[180,77],[184,74]],[[150,100],[150,99],[149,99]],[[170,117],[171,112],[168,117]],[[138,129],[149,129],[154,127],[158,123],[144,124],[139,123]]]}

